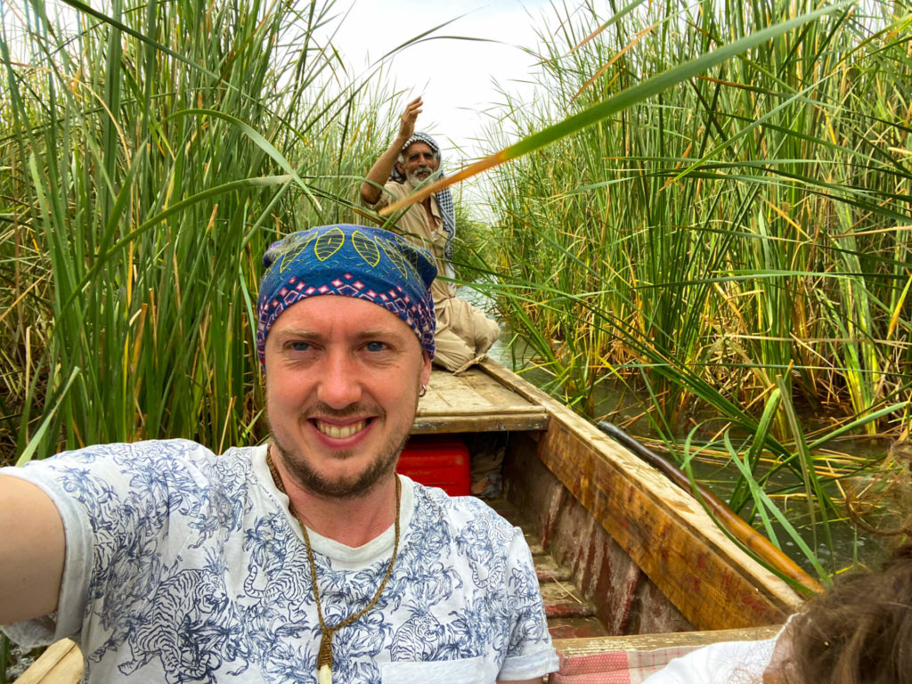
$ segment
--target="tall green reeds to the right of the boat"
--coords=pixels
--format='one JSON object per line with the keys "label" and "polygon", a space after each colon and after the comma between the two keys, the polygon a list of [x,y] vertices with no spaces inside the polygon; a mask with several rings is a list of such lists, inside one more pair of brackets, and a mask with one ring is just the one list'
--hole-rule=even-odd
{"label": "tall green reeds to the right of the boat", "polygon": [[[492,147],[818,6],[557,5],[534,102],[504,92]],[[908,428],[910,21],[844,5],[492,174],[499,301],[555,391],[598,419],[600,382],[646,393],[639,430],[686,467],[719,449],[767,532],[768,493],[840,515],[829,440]]]}

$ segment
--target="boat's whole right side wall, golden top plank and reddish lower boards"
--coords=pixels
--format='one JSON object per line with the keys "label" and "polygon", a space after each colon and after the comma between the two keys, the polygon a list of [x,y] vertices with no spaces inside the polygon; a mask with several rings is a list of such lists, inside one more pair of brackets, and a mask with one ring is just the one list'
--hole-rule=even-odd
{"label": "boat's whole right side wall, golden top plank and reddish lower boards", "polygon": [[547,411],[544,430],[511,435],[506,495],[611,633],[775,625],[801,605],[689,492],[502,366],[482,370]]}

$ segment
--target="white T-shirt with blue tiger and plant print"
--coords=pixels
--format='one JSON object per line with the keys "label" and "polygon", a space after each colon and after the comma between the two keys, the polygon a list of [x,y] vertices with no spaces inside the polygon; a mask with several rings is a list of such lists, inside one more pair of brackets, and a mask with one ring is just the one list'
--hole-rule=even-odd
{"label": "white T-shirt with blue tiger and plant print", "polygon": [[[57,504],[57,615],[5,627],[74,638],[86,682],[316,682],[320,628],[300,526],[266,448],[109,444],[6,468]],[[333,638],[334,682],[493,682],[557,668],[523,534],[472,497],[402,477],[399,557]],[[393,529],[358,548],[310,532],[326,623],[373,597]]]}

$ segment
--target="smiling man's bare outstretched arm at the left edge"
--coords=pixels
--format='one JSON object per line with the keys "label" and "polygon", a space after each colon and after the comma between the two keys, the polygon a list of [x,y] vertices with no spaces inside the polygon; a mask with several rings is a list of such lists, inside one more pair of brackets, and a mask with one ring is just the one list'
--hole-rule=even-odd
{"label": "smiling man's bare outstretched arm at the left edge", "polygon": [[0,625],[57,610],[67,546],[50,497],[0,475]]}

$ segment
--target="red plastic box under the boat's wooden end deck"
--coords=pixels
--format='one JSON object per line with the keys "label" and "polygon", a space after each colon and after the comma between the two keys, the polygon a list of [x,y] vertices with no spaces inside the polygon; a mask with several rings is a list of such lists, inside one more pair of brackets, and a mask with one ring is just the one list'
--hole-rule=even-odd
{"label": "red plastic box under the boat's wooden end deck", "polygon": [[451,496],[468,496],[472,493],[471,461],[468,447],[452,435],[415,435],[399,454],[396,470]]}

